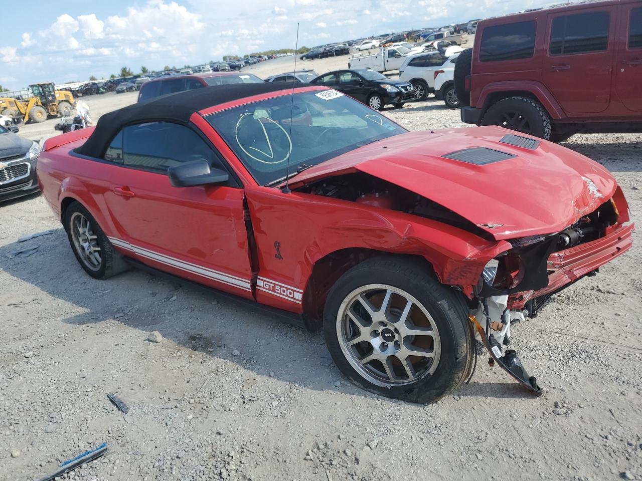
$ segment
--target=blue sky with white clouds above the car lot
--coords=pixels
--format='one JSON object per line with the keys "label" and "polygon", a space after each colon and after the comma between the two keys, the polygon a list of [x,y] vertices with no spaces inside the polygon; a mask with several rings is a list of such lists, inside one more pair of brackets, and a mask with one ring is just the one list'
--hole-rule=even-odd
{"label": "blue sky with white clouds above the car lot", "polygon": [[[223,55],[308,47],[386,31],[464,22],[545,0],[28,0],[3,1],[0,85],[107,78],[123,66],[160,70]],[[37,12],[25,17],[26,12]],[[28,21],[26,20],[28,18]]]}

